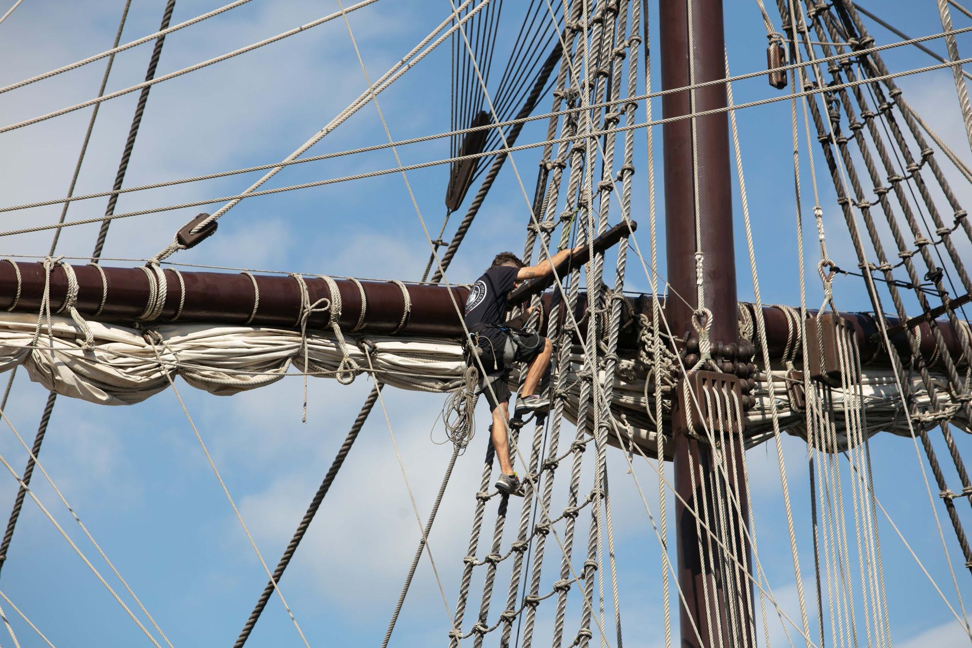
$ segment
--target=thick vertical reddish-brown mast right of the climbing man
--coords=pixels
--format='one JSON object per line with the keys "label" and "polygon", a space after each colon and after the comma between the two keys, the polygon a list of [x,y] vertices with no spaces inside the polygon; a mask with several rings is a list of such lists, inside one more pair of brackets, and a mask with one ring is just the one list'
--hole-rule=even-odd
{"label": "thick vertical reddish-brown mast right of the climbing man", "polygon": [[[689,16],[691,4],[692,16]],[[725,77],[724,40],[722,33],[721,0],[673,0],[659,3],[662,42],[662,86],[664,89],[683,88],[691,83],[701,83]],[[691,32],[691,35],[690,35]],[[690,40],[691,37],[691,40]],[[694,52],[690,52],[690,44]],[[689,56],[694,57],[694,78],[690,73]],[[694,105],[693,105],[694,103]],[[665,118],[692,112],[723,108],[726,106],[725,87],[713,85],[693,93],[686,90],[664,96],[662,109]],[[671,289],[681,299],[668,300],[666,305],[672,332],[680,336],[693,331],[692,314],[699,306],[712,311],[710,338],[714,342],[737,343],[736,266],[733,250],[732,190],[729,168],[729,127],[725,113],[695,120],[695,142],[698,160],[693,162],[692,121],[682,120],[664,126],[665,146],[665,218],[668,254],[668,279]],[[693,169],[693,166],[695,168]],[[695,187],[698,182],[698,188]],[[698,204],[696,205],[696,193]],[[701,219],[700,233],[696,234],[695,215]],[[704,255],[703,282],[705,304],[697,304],[696,253]],[[688,306],[685,304],[688,302]],[[681,433],[679,433],[681,432]],[[716,516],[730,511],[712,510],[712,484],[718,479],[712,467],[712,455],[705,443],[690,439],[684,431],[675,430],[675,487],[688,506],[704,516],[702,485],[710,489],[709,515],[711,527]],[[735,445],[736,456],[728,459],[741,466],[738,454],[743,450]],[[727,452],[733,454],[733,450]],[[732,463],[730,463],[732,465]],[[693,473],[694,484],[693,488]],[[740,484],[744,482],[740,479]],[[742,490],[742,488],[741,488]],[[746,493],[739,492],[739,501],[746,516]],[[705,529],[700,533],[689,509],[676,501],[678,582],[688,603],[679,606],[681,645],[692,648],[714,648],[716,645],[749,645],[745,630],[751,618],[740,620],[737,631],[730,630],[728,605],[736,605],[740,588],[748,588],[747,582],[737,585],[737,590],[727,590],[725,574],[719,573],[718,560],[709,556],[716,551],[714,543],[707,541]],[[700,540],[707,548],[700,555]],[[709,549],[712,548],[712,549]],[[744,543],[738,552],[742,561],[748,558],[748,546]],[[710,559],[715,563],[712,569]],[[746,564],[751,560],[746,559]],[[723,570],[724,571],[724,570]],[[745,576],[744,576],[745,579]],[[751,591],[750,591],[751,593]],[[707,615],[706,594],[712,607]],[[727,598],[729,600],[727,600]],[[751,596],[750,596],[751,599]],[[717,616],[716,616],[717,615]],[[748,616],[748,613],[744,614]],[[719,622],[716,623],[715,619]],[[712,624],[710,624],[710,620]],[[692,626],[698,628],[701,642]],[[733,636],[738,634],[738,636]],[[722,639],[719,639],[721,635]],[[710,643],[711,642],[711,643]]]}

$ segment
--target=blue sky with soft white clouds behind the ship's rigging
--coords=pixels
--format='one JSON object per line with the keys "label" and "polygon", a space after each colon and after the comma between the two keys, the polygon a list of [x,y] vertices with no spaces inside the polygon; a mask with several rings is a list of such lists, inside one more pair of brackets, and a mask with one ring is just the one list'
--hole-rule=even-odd
{"label": "blue sky with soft white clouds behind the ship's rigging", "polygon": [[[649,5],[651,39],[656,44],[657,3]],[[163,6],[162,0],[133,3],[122,42],[155,31]],[[173,23],[217,6],[210,0],[180,0]],[[867,7],[878,9],[876,3]],[[515,8],[516,4],[507,0],[504,12],[512,14]],[[226,15],[171,34],[158,73],[224,54],[336,10],[336,3],[254,0]],[[940,30],[935,3],[931,0],[918,3],[885,0],[880,10],[885,19],[911,36]],[[382,0],[351,15],[349,19],[371,78],[388,69],[446,18],[448,12],[448,2]],[[0,69],[0,85],[108,49],[120,13],[118,0],[74,3],[25,0],[11,18],[0,24],[0,60],[5,61]],[[953,13],[955,26],[968,24],[966,18]],[[733,72],[763,69],[765,31],[755,3],[726,3],[726,14],[727,48]],[[775,22],[779,25],[778,19]],[[872,33],[879,43],[894,39],[877,26]],[[503,47],[508,51],[514,37],[515,30],[503,33],[498,51],[503,52]],[[968,55],[972,39],[959,37],[958,46],[962,54]],[[936,42],[932,47],[944,52],[941,43]],[[120,54],[109,90],[141,81],[150,54],[151,45]],[[447,46],[434,52],[380,96],[388,126],[396,139],[448,129],[449,55]],[[891,71],[930,62],[914,50],[889,52],[885,60]],[[498,62],[502,63],[502,59]],[[660,80],[657,55],[652,63],[657,88]],[[92,97],[103,70],[103,62],[94,63],[0,96],[0,122],[13,124]],[[903,79],[900,85],[925,119],[968,160],[951,74],[942,70]],[[125,184],[131,186],[280,160],[328,123],[364,88],[364,76],[340,20],[160,84],[152,90]],[[737,102],[777,94],[762,78],[736,84],[734,92]],[[137,93],[132,93],[102,106],[77,193],[111,187],[136,97]],[[549,106],[549,101],[542,102],[541,106]],[[661,114],[658,103],[654,105],[654,114],[656,117]],[[78,111],[0,137],[0,168],[3,169],[0,195],[5,204],[64,194],[88,116],[87,110]],[[741,111],[738,115],[762,297],[766,303],[796,305],[799,285],[789,117],[788,102]],[[642,119],[643,109],[639,111],[639,121]],[[528,126],[520,141],[538,141],[544,129],[545,126]],[[656,130],[659,174],[660,135]],[[366,106],[315,147],[313,153],[384,141],[377,112],[372,106]],[[636,136],[633,217],[642,226],[647,225],[644,142],[644,131],[640,130]],[[813,206],[807,198],[810,165],[806,142],[801,146],[804,148],[802,182],[806,192],[804,213],[810,218]],[[856,261],[818,148],[814,154],[831,256],[838,265],[853,268]],[[447,140],[400,149],[399,155],[406,164],[445,158],[448,157]],[[514,160],[529,190],[533,186],[538,152],[522,152]],[[281,173],[268,187],[394,165],[391,152],[379,151],[299,165]],[[237,176],[122,196],[118,211],[235,194],[255,178]],[[664,197],[660,175],[656,179],[661,215]],[[430,229],[437,232],[444,213],[446,168],[435,166],[410,172],[409,180],[423,217]],[[959,198],[972,201],[968,185],[955,182]],[[101,200],[74,203],[68,218],[99,216],[103,209]],[[165,212],[115,222],[105,257],[152,256],[196,211]],[[50,223],[58,213],[56,206],[8,213],[3,217],[3,229],[24,223]],[[738,197],[735,213],[739,223],[736,240],[739,294],[741,299],[749,299],[752,286]],[[519,185],[507,164],[449,270],[450,279],[470,281],[495,252],[522,249],[527,218]],[[457,221],[458,218],[451,222],[447,235]],[[664,232],[662,223],[659,232]],[[806,225],[808,258],[816,259],[813,225],[810,221]],[[95,226],[72,228],[62,236],[58,252],[84,256],[89,253],[95,234]],[[50,233],[11,237],[0,241],[0,254],[43,255],[50,239]],[[646,227],[639,232],[639,240],[646,250]],[[968,249],[967,245],[963,246],[962,252],[967,253]],[[220,222],[216,236],[194,250],[179,253],[174,260],[417,279],[427,256],[428,246],[415,210],[400,176],[393,174],[246,200]],[[611,265],[609,262],[608,266]],[[629,266],[628,277],[629,289],[646,289],[647,280],[638,266]],[[809,302],[816,306],[820,295],[818,286],[811,281],[808,288]],[[849,310],[869,307],[859,281],[853,277],[838,279],[837,303]],[[268,563],[275,563],[357,414],[370,388],[368,381],[361,377],[345,387],[331,380],[311,380],[306,424],[300,422],[299,378],[285,379],[231,398],[193,390],[181,381],[178,384],[263,557]],[[39,385],[22,376],[17,378],[6,414],[25,438],[33,436],[46,396]],[[423,516],[431,507],[450,453],[447,446],[434,445],[430,438],[442,439],[441,428],[434,427],[442,400],[442,396],[391,389],[385,395],[408,482]],[[478,432],[472,448],[460,459],[430,538],[450,607],[455,605],[486,439],[486,411],[482,409],[478,415]],[[969,451],[972,444],[967,437],[960,432],[956,434],[959,448],[972,456]],[[783,447],[804,584],[811,603],[813,551],[806,450],[801,442],[790,438],[784,439]],[[944,445],[936,443],[936,449],[946,463]],[[955,605],[955,589],[929,511],[912,442],[879,435],[872,443],[872,452],[877,467],[876,489],[888,514]],[[25,462],[25,452],[9,431],[0,431],[0,453],[17,469]],[[226,645],[235,638],[260,594],[265,575],[171,391],[126,408],[104,408],[59,399],[41,461],[174,645]],[[658,542],[634,481],[626,474],[623,456],[611,451],[608,461],[625,644],[660,646],[663,637]],[[769,446],[750,450],[748,461],[760,558],[781,607],[796,619],[796,589],[776,452]],[[635,467],[656,513],[655,473],[643,461],[636,462]],[[954,470],[948,466],[946,470],[950,484],[957,489]],[[16,483],[12,478],[4,479],[0,486],[5,490],[0,493],[6,492],[8,501],[13,502]],[[34,485],[38,498],[93,559],[95,551],[40,474],[35,475]],[[947,524],[937,496],[935,500],[942,522]],[[0,506],[3,501],[0,499]],[[962,505],[958,503],[963,521],[972,524],[970,512]],[[671,511],[670,501],[670,515]],[[893,640],[898,645],[909,646],[957,645],[962,630],[893,530],[885,520],[881,524]],[[581,537],[586,533],[584,529]],[[947,526],[945,537],[958,570],[961,594],[966,601],[972,601],[969,577],[961,567],[961,555]],[[379,645],[418,538],[389,427],[384,416],[376,411],[281,582],[310,644]],[[555,547],[550,548],[548,565],[559,558],[553,551]],[[109,571],[103,563],[95,561],[95,564],[102,573]],[[545,567],[545,570],[549,575],[554,568]],[[505,591],[506,578],[503,575],[499,580],[501,592]],[[478,587],[478,581],[474,581],[473,600],[478,599]],[[24,506],[0,579],[0,590],[17,603],[54,645],[148,643],[32,502]],[[491,619],[495,618],[498,605],[494,604]],[[13,617],[9,606],[3,607]],[[571,610],[575,618],[579,610],[576,599]],[[541,608],[539,637],[548,634],[549,613],[549,608],[545,611]],[[468,627],[469,615],[467,620]],[[39,639],[22,621],[13,619],[12,623],[21,645],[38,645]],[[447,630],[434,575],[424,559],[392,645],[441,645]],[[776,622],[772,638],[776,645],[785,644]],[[0,645],[7,645],[8,641],[9,637],[0,633]],[[271,599],[248,645],[300,645],[278,599]]]}

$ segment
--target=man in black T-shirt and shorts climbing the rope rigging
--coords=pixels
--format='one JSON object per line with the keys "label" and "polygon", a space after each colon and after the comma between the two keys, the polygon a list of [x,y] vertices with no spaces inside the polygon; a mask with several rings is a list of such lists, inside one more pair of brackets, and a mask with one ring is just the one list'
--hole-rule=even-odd
{"label": "man in black T-shirt and shorts climbing the rope rigging", "polygon": [[[509,420],[509,370],[513,362],[527,363],[527,374],[516,399],[515,415],[545,412],[550,400],[537,393],[540,378],[550,364],[553,344],[530,331],[503,323],[511,290],[527,279],[550,275],[555,267],[582,249],[561,250],[553,258],[536,266],[525,266],[512,252],[501,252],[493,265],[480,276],[469,290],[466,301],[466,326],[471,336],[471,352],[480,358],[482,371],[480,388],[493,414],[493,447],[500,460],[500,478],[496,487],[503,493],[520,490],[520,479],[513,472],[509,460],[506,421]],[[529,313],[525,313],[524,322]],[[478,367],[469,355],[469,365]],[[492,389],[490,388],[492,387]],[[495,396],[495,398],[494,398]]]}

